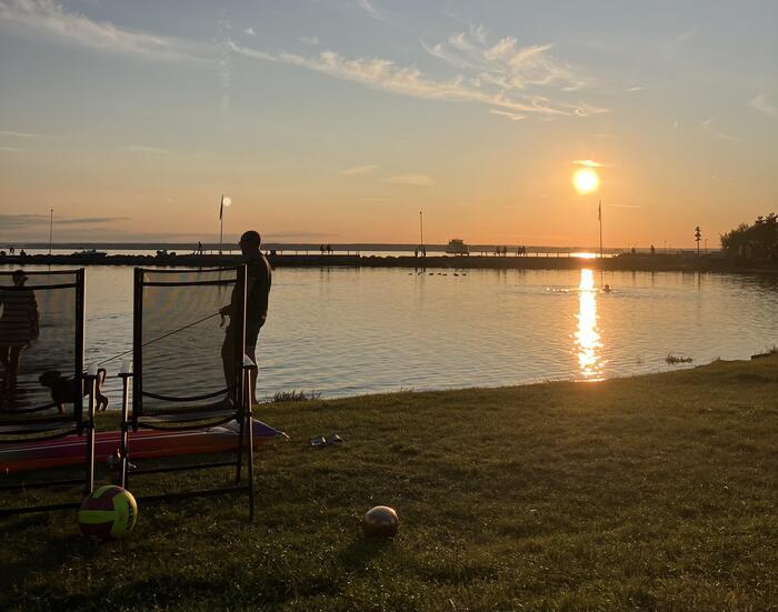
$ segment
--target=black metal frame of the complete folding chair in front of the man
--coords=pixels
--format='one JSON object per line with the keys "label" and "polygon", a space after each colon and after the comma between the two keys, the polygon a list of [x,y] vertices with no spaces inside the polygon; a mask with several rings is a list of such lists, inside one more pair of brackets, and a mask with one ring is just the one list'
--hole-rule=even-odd
{"label": "black metal frame of the complete folding chair in front of the man", "polygon": [[[160,273],[196,273],[196,272],[235,272],[236,280],[231,281],[147,281],[144,275],[147,272],[153,274]],[[230,411],[218,410],[209,413],[208,407],[200,408],[180,408],[189,401],[201,401],[209,398],[220,395],[225,392],[229,394],[230,387],[219,390],[215,393],[190,398],[172,398],[158,393],[143,391],[143,354],[142,347],[148,339],[143,338],[143,289],[146,287],[197,287],[203,284],[222,284],[233,285],[237,291],[237,301],[242,304],[238,312],[233,313],[231,325],[235,329],[235,380],[232,382],[233,409]],[[132,334],[132,371],[127,371],[122,368],[119,377],[122,379],[122,408],[121,408],[121,441],[120,441],[120,484],[128,488],[130,479],[136,479],[143,474],[164,473],[205,470],[211,468],[236,468],[235,484],[230,486],[221,486],[216,489],[207,489],[199,491],[181,491],[172,493],[163,493],[159,495],[136,495],[140,502],[157,502],[172,499],[193,498],[203,495],[219,495],[236,492],[246,492],[249,495],[249,520],[253,521],[255,515],[255,490],[253,490],[253,431],[251,428],[251,404],[250,393],[248,393],[248,381],[250,372],[256,368],[252,363],[245,361],[246,347],[246,265],[231,268],[200,269],[200,270],[147,270],[136,268],[134,270],[134,289],[133,289],[133,334]],[[130,414],[129,390],[132,385],[132,413]],[[170,402],[171,409],[166,410],[147,410],[143,404],[144,398],[153,398],[158,401]],[[174,408],[179,404],[179,408]],[[132,459],[131,432],[137,432],[139,429],[156,429],[162,431],[180,431],[205,429],[212,425],[226,423],[231,420],[237,420],[239,423],[238,447],[235,460],[219,461],[209,463],[189,463],[186,465],[166,465],[157,468],[133,469],[129,471],[129,461]],[[248,451],[247,481],[241,482],[243,468],[243,452]]]}

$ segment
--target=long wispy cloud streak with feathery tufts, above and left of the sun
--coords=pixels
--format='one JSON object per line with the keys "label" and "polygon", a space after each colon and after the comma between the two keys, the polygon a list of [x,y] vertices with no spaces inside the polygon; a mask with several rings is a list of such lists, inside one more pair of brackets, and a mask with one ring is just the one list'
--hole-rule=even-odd
{"label": "long wispy cloud streak with feathery tufts, above and left of the sun", "polygon": [[[452,78],[440,80],[429,78],[416,66],[401,67],[391,60],[380,58],[348,59],[333,51],[322,51],[315,57],[303,57],[297,53],[280,51],[277,53],[249,49],[235,42],[230,42],[231,49],[243,57],[260,61],[272,61],[297,66],[336,79],[352,81],[371,89],[389,91],[402,96],[412,96],[430,100],[447,100],[460,102],[478,102],[499,110],[511,111],[517,114],[528,113],[546,118],[560,116],[589,117],[609,109],[595,107],[586,102],[552,101],[540,92],[520,91],[518,80],[513,81],[512,89],[507,89],[501,83],[499,74],[487,77],[485,74],[466,78],[457,74]],[[515,43],[505,43],[503,47],[515,48]],[[502,51],[508,53],[508,51]],[[492,54],[500,50],[490,51]],[[520,51],[516,63],[520,63],[525,57]],[[537,54],[535,50],[529,54]],[[530,61],[533,63],[536,60]],[[540,60],[537,60],[540,61]],[[540,62],[542,63],[542,61]],[[548,82],[556,79],[550,78]],[[547,79],[543,78],[543,81]],[[525,81],[523,87],[530,86],[531,79]],[[570,80],[565,81],[571,82]]]}

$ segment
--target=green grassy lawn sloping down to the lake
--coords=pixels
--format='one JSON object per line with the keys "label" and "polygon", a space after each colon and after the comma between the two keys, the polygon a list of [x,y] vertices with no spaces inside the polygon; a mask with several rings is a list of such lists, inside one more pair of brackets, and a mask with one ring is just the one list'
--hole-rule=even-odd
{"label": "green grassy lawn sloping down to the lake", "polygon": [[[108,544],[8,520],[0,609],[778,609],[778,355],[258,415],[292,441],[257,454],[255,524],[245,496],[141,508]],[[377,504],[391,541],[361,535]]]}

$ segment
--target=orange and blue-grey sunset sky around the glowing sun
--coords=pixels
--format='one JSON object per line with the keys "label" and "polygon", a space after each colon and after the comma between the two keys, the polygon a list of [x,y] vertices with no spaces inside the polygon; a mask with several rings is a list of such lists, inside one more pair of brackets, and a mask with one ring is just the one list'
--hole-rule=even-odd
{"label": "orange and blue-grey sunset sky around the glowing sun", "polygon": [[[710,245],[778,209],[778,2],[0,0],[0,247]],[[587,165],[600,188],[580,195]]]}

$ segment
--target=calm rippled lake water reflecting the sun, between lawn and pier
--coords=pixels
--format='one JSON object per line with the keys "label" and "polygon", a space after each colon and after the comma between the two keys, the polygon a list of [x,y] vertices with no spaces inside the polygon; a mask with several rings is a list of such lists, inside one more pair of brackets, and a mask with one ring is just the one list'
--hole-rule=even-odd
{"label": "calm rippled lake water reflecting the sun, between lawn and pier", "polygon": [[[439,272],[276,270],[260,395],[600,380],[677,368],[668,353],[704,363],[778,344],[778,277]],[[132,269],[88,268],[87,300],[87,362],[130,350]],[[106,388],[118,407],[118,381]]]}

